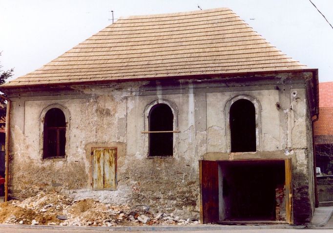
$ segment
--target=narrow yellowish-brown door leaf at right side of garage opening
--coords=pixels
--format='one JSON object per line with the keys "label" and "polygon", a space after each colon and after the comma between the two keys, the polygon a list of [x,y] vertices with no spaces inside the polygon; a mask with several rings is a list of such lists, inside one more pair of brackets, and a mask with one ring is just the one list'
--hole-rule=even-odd
{"label": "narrow yellowish-brown door leaf at right side of garage opening", "polygon": [[291,185],[291,159],[285,159],[286,174],[286,220],[292,224],[292,185]]}

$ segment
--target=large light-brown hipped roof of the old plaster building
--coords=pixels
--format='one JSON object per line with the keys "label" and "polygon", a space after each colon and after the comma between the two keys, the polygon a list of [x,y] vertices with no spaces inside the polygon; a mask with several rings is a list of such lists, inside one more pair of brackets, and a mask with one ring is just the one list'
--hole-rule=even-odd
{"label": "large light-brown hipped roof of the old plaster building", "polygon": [[3,86],[299,70],[228,8],[122,18]]}

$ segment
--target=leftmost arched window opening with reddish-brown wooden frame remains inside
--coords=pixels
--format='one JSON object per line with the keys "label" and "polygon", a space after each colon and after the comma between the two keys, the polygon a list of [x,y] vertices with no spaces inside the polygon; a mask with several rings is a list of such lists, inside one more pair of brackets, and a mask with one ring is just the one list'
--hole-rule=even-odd
{"label": "leftmost arched window opening with reddish-brown wooden frame remains inside", "polygon": [[65,156],[66,119],[62,110],[51,108],[45,114],[43,158]]}

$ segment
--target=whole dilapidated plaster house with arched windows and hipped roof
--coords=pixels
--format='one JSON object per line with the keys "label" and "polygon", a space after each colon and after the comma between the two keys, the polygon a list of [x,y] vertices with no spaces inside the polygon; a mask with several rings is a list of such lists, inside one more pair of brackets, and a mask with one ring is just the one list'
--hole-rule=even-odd
{"label": "whole dilapidated plaster house with arched windows and hipped roof", "polygon": [[317,82],[228,8],[122,18],[1,86],[10,194],[309,222]]}

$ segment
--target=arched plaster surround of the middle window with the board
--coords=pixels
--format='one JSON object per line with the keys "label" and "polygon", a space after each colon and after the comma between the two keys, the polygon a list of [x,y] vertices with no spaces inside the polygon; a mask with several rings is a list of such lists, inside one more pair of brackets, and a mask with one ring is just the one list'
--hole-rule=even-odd
{"label": "arched plaster surround of the middle window with the board", "polygon": [[[161,156],[149,156],[149,133],[147,133],[149,131],[149,113],[150,110],[153,106],[157,105],[157,104],[166,104],[167,106],[169,106],[171,108],[172,114],[173,114],[173,131],[175,131],[173,133],[173,155],[172,157],[178,157],[178,108],[177,106],[168,100],[165,99],[159,99],[159,100],[155,100],[151,103],[149,103],[144,111],[144,118],[145,118],[145,123],[144,123],[144,142],[145,142],[145,146],[144,146],[144,154],[146,155],[147,158],[154,158],[154,157],[161,157]],[[163,156],[163,157],[171,157],[171,156]]]}

